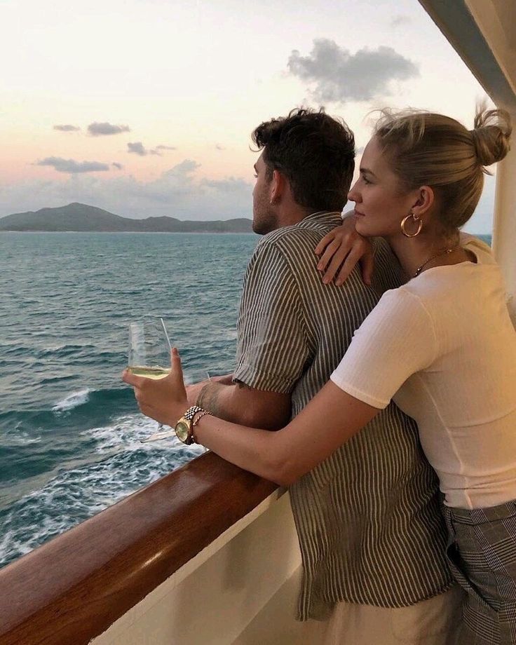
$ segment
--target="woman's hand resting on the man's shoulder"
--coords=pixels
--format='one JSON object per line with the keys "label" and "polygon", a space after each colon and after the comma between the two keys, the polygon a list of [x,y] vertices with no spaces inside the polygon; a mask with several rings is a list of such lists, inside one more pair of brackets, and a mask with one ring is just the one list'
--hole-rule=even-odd
{"label": "woman's hand resting on the man's shoulder", "polygon": [[371,284],[374,269],[372,243],[355,231],[353,217],[346,217],[341,226],[336,226],[327,233],[315,247],[315,254],[320,255],[317,268],[321,273],[322,282],[341,285],[348,278],[357,262],[362,269],[362,280],[366,285]]}

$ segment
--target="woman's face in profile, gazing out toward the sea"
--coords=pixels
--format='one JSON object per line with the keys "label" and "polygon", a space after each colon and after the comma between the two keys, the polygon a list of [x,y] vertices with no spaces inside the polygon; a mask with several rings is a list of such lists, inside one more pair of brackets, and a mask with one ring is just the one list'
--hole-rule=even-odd
{"label": "woman's face in profile, gazing out toward the sea", "polygon": [[390,237],[401,234],[402,219],[417,201],[417,191],[404,193],[375,137],[362,154],[360,177],[348,198],[355,202],[355,228],[363,236]]}

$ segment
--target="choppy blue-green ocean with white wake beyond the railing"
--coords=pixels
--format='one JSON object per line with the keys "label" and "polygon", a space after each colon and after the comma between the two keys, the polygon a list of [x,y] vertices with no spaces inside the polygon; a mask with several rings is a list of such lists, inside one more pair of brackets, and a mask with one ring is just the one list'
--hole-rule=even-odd
{"label": "choppy blue-green ocean with white wake beyond the railing", "polygon": [[128,326],[162,316],[190,382],[231,372],[258,239],[0,233],[0,566],[201,453],[142,443]]}

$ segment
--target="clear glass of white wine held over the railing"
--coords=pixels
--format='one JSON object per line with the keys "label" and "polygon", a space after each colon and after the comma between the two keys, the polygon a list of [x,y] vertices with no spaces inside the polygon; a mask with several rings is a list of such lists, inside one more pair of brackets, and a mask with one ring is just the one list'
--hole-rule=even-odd
{"label": "clear glass of white wine held over the railing", "polygon": [[[131,374],[154,381],[164,379],[170,374],[170,351],[170,339],[163,318],[146,318],[130,323],[128,371]],[[158,423],[157,430],[144,441],[155,441],[174,434],[174,430],[163,432],[163,423]]]}

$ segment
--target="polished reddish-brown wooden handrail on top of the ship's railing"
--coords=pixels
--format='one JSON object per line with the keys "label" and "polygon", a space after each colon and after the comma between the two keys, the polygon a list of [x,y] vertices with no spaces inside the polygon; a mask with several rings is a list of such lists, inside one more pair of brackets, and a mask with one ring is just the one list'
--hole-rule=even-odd
{"label": "polished reddish-brown wooden handrail on top of the ship's railing", "polygon": [[86,645],[276,489],[208,452],[0,571],[0,645]]}

